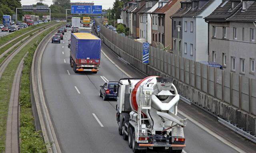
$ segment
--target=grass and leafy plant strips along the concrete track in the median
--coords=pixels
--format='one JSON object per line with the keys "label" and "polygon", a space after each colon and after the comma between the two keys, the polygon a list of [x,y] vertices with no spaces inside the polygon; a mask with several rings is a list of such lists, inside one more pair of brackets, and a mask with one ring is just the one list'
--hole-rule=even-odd
{"label": "grass and leafy plant strips along the concrete track in the median", "polygon": [[5,133],[6,133],[6,119],[8,115],[8,105],[10,100],[10,93],[12,90],[12,82],[16,69],[24,55],[28,52],[27,57],[24,59],[24,68],[22,71],[21,86],[20,86],[20,152],[21,153],[46,153],[46,145],[43,138],[40,135],[40,131],[35,131],[34,117],[31,110],[30,99],[30,69],[31,63],[40,41],[53,29],[60,26],[57,24],[51,27],[47,31],[44,31],[41,35],[30,41],[22,50],[15,55],[12,61],[8,64],[2,78],[0,79],[0,153],[5,150]]}

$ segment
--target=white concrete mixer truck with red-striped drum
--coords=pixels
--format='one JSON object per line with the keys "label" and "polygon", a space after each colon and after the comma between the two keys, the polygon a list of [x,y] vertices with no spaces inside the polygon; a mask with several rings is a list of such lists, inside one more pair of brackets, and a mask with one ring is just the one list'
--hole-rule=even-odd
{"label": "white concrete mixer truck with red-striped drum", "polygon": [[177,116],[180,95],[172,82],[156,76],[122,78],[114,86],[118,132],[134,153],[156,147],[181,153],[186,147],[186,119]]}

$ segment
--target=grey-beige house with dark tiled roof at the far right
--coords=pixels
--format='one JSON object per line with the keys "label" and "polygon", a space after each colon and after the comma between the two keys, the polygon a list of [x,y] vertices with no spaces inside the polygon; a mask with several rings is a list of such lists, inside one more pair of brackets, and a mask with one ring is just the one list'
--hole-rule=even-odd
{"label": "grey-beige house with dark tiled roof at the far right", "polygon": [[237,75],[256,79],[256,1],[227,0],[205,18],[209,61]]}

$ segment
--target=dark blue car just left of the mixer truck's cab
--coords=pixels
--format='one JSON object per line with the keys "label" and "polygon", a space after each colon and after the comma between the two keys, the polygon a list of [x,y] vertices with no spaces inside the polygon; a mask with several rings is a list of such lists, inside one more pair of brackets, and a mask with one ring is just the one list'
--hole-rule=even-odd
{"label": "dark blue car just left of the mixer truck's cab", "polygon": [[118,82],[106,82],[103,86],[100,86],[100,97],[106,101],[110,98],[117,99],[117,92],[114,92],[114,85],[118,85]]}

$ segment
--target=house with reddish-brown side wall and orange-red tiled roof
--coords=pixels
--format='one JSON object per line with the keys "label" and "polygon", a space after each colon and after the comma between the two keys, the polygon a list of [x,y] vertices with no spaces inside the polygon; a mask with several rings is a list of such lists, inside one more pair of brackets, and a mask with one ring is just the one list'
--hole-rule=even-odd
{"label": "house with reddish-brown side wall and orange-red tiled roof", "polygon": [[[152,13],[154,18],[157,18],[157,32],[153,33],[155,41],[152,42],[154,47],[157,43],[162,43],[165,47],[172,47],[172,20],[170,16],[174,14],[180,8],[180,0],[160,0],[158,2],[158,8]],[[155,20],[154,19],[154,20]]]}

